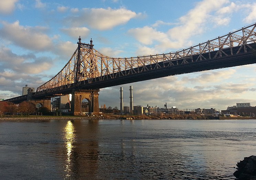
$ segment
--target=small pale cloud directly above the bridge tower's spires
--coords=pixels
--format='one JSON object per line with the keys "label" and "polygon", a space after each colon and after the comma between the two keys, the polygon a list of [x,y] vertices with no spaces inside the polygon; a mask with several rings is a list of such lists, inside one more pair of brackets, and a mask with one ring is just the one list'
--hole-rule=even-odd
{"label": "small pale cloud directly above the bridge tower's spires", "polygon": [[81,36],[82,38],[86,38],[90,33],[90,29],[88,29],[87,27],[70,27],[62,28],[60,30],[73,38],[78,38],[79,36]]}

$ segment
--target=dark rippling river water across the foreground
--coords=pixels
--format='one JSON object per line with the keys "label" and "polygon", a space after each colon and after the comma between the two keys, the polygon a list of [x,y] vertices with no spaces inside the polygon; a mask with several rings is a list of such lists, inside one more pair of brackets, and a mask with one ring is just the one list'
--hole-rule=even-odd
{"label": "dark rippling river water across the foreground", "polygon": [[256,120],[0,121],[0,179],[232,179]]}

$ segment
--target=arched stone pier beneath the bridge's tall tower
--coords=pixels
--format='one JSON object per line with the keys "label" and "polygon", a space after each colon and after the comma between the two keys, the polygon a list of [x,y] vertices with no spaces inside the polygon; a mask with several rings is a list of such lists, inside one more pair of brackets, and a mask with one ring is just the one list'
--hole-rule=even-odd
{"label": "arched stone pier beneath the bridge's tall tower", "polygon": [[82,100],[87,99],[89,113],[91,115],[99,115],[99,91],[99,89],[74,91],[71,99],[71,114],[75,116],[80,115]]}

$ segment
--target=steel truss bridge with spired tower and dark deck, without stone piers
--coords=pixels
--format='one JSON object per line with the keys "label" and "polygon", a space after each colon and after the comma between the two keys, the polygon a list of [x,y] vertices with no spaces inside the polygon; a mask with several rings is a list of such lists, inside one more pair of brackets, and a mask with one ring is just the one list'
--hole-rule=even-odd
{"label": "steel truss bridge with spired tower and dark deck, without stone piers", "polygon": [[[256,23],[175,52],[113,58],[90,44],[78,47],[51,80],[39,86],[33,98],[69,94],[74,89],[100,89],[184,73],[256,63]],[[27,96],[9,99],[18,102]]]}

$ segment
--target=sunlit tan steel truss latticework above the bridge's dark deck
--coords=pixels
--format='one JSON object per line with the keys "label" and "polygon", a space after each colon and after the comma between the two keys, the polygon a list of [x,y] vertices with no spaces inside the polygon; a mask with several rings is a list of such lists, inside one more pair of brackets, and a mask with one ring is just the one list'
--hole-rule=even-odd
{"label": "sunlit tan steel truss latticework above the bridge's dark deck", "polygon": [[[113,79],[115,78],[115,73],[129,75],[131,73],[134,74],[142,71],[149,71],[152,69],[149,69],[147,65],[156,64],[154,69],[158,67],[161,68],[158,66],[159,62],[174,65],[172,61],[183,59],[182,63],[188,63],[186,59],[192,55],[199,55],[198,58],[194,59],[193,61],[206,60],[203,53],[209,53],[208,59],[211,59],[211,57],[213,57],[212,55],[210,56],[212,51],[215,53],[214,58],[229,56],[222,50],[223,48],[230,48],[231,55],[233,55],[232,48],[241,46],[240,49],[236,51],[236,54],[240,53],[241,51],[246,53],[246,48],[252,48],[249,44],[256,42],[255,27],[256,23],[230,32],[224,36],[219,36],[215,39],[208,40],[204,43],[191,46],[187,49],[178,50],[176,52],[130,58],[112,58],[103,55],[96,49],[86,46],[83,43],[78,44],[78,48],[64,68],[51,80],[39,86],[36,91],[43,91],[64,85],[70,87],[71,84],[76,82],[76,80],[77,82],[90,82],[92,79],[97,77],[99,81],[104,81],[104,76],[109,76]],[[79,50],[80,53],[78,53]],[[79,54],[80,58],[78,58]],[[80,67],[77,67],[78,60],[80,60]],[[135,68],[140,71],[137,72]],[[124,71],[127,71],[127,73],[124,74]]]}

